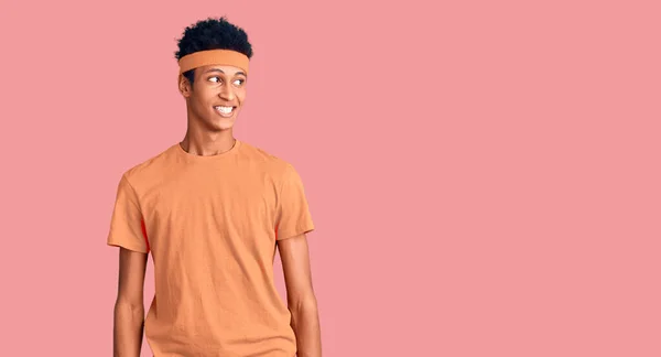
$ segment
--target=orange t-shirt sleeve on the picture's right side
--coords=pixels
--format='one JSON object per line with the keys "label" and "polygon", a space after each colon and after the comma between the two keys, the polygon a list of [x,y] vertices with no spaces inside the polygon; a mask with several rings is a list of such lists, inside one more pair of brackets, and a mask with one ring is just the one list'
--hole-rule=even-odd
{"label": "orange t-shirt sleeve on the picture's right side", "polygon": [[314,230],[303,182],[296,170],[288,164],[278,199],[275,239],[292,238]]}

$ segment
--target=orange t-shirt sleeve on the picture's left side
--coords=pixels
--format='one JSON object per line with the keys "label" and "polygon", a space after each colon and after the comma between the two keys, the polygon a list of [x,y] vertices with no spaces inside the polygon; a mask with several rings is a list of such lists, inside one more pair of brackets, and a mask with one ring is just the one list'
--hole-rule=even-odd
{"label": "orange t-shirt sleeve on the picture's left side", "polygon": [[149,242],[144,232],[144,221],[138,195],[126,174],[121,176],[117,188],[107,245],[144,253],[149,252]]}

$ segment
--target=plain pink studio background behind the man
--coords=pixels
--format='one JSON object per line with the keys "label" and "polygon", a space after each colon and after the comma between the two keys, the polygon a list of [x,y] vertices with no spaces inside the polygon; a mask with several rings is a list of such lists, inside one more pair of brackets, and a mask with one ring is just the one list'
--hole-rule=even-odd
{"label": "plain pink studio background behind the man", "polygon": [[111,355],[118,180],[183,138],[175,39],[227,14],[325,357],[660,356],[654,3],[3,1],[1,355]]}

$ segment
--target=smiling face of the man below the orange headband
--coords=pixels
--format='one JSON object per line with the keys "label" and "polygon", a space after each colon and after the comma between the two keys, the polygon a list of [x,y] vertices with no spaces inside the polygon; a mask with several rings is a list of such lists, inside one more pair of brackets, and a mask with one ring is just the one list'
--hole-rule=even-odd
{"label": "smiling face of the man below the orange headband", "polygon": [[195,68],[193,88],[187,79],[180,85],[193,113],[191,119],[212,131],[232,128],[246,98],[246,80],[243,71],[235,66]]}

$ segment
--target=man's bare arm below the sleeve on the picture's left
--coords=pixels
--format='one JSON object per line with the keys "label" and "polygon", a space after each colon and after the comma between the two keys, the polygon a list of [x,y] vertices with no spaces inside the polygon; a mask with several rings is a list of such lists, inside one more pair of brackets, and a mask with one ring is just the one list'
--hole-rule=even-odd
{"label": "man's bare arm below the sleeve on the picture's left", "polygon": [[119,250],[119,289],[115,302],[113,356],[139,357],[144,321],[143,286],[147,253]]}

